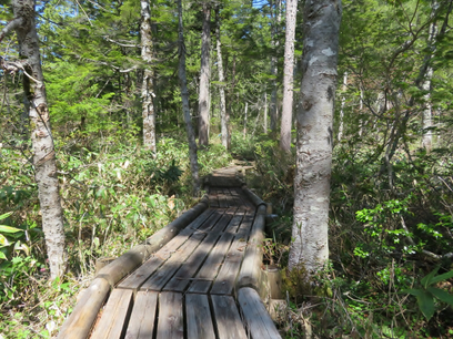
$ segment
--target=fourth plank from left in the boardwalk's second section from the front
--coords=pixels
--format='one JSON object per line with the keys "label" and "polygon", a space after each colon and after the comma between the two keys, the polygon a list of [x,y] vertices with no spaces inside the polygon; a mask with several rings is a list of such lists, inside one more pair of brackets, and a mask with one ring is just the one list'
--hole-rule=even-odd
{"label": "fourth plank from left in the boardwalk's second section from the front", "polygon": [[204,261],[200,271],[197,274],[195,279],[191,284],[189,291],[191,292],[208,292],[214,280],[220,266],[224,259],[224,256],[230,248],[231,242],[235,236],[235,232],[243,218],[243,210],[238,212],[231,219],[226,232],[221,236],[214,248],[209,254],[208,259]]}

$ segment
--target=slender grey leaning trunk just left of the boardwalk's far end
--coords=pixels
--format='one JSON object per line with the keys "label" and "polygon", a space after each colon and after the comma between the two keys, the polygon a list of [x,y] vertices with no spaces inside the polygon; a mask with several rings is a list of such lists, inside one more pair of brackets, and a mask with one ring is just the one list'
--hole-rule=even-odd
{"label": "slender grey leaning trunk just left of the boardwalk's far end", "polygon": [[185,131],[188,133],[189,141],[189,158],[190,168],[192,171],[193,181],[193,194],[197,195],[200,189],[199,170],[198,170],[198,155],[197,155],[197,142],[195,133],[193,132],[192,121],[189,109],[189,92],[188,92],[188,78],[185,75],[185,45],[184,34],[182,27],[182,4],[181,0],[178,0],[178,50],[179,50],[179,80],[181,88],[182,112],[184,115]]}

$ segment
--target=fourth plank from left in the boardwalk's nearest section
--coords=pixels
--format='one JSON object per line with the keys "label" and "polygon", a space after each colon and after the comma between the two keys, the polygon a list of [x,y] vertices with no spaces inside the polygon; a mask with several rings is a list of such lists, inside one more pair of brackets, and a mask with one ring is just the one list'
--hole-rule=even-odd
{"label": "fourth plank from left in the boardwalk's nearest section", "polygon": [[215,339],[207,295],[185,295],[188,339]]}

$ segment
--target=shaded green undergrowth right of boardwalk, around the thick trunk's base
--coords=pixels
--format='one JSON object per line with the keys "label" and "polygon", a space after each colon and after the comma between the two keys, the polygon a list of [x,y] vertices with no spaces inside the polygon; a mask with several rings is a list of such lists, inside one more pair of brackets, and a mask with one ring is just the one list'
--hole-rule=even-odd
{"label": "shaded green undergrowth right of boardwalk, around the thick trunk's base", "polygon": [[[285,338],[453,338],[450,148],[400,150],[392,171],[382,171],[375,147],[355,141],[336,145],[330,267],[310,284],[303,267],[284,269],[294,153],[282,154],[264,135],[238,143],[233,153],[253,158],[256,170],[248,183],[279,215],[264,253],[282,269],[286,306],[278,323]],[[437,269],[442,280],[426,285]]]}

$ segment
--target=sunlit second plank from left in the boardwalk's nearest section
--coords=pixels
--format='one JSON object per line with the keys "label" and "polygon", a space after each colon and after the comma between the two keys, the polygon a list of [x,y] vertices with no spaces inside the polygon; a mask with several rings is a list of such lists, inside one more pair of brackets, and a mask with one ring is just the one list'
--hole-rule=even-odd
{"label": "sunlit second plank from left in the boardwalk's nearest section", "polygon": [[153,338],[158,292],[139,291],[124,339]]}

